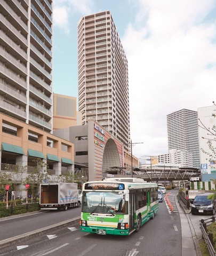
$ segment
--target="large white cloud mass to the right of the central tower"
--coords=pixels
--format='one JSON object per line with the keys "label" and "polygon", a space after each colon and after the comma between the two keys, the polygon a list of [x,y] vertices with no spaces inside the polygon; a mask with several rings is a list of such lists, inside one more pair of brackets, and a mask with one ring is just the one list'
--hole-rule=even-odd
{"label": "large white cloud mass to the right of the central tower", "polygon": [[[122,38],[129,61],[134,154],[168,153],[166,116],[197,111],[215,100],[214,1],[139,0],[135,22]],[[213,99],[214,98],[214,99]]]}

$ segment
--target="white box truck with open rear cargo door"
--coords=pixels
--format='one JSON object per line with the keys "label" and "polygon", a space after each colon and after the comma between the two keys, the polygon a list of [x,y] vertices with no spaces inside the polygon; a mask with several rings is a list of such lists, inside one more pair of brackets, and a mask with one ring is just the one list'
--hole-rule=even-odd
{"label": "white box truck with open rear cargo door", "polygon": [[67,210],[81,206],[81,190],[77,183],[41,183],[39,185],[39,206],[41,210]]}

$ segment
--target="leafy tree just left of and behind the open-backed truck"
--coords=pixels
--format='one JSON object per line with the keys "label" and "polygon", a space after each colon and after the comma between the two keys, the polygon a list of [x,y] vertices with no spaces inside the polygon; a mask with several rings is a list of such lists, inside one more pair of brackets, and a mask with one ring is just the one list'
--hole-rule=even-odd
{"label": "leafy tree just left of and behind the open-backed truck", "polygon": [[49,165],[44,163],[41,158],[34,159],[33,162],[36,164],[34,172],[29,173],[23,183],[30,185],[29,189],[31,191],[31,198],[34,198],[36,202],[36,198],[39,194],[39,184],[43,183],[44,179],[49,181],[49,176],[51,174],[49,171]]}

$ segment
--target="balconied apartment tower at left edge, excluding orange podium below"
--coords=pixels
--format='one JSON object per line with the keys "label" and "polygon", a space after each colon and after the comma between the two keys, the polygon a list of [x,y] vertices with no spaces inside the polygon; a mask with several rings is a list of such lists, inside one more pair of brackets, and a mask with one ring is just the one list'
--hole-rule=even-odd
{"label": "balconied apartment tower at left edge, excluding orange podium below", "polygon": [[0,1],[0,112],[52,131],[52,1]]}

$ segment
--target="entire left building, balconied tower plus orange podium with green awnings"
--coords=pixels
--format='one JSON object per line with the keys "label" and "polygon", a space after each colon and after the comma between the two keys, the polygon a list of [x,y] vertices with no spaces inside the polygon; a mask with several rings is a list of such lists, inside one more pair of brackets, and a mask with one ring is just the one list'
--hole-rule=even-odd
{"label": "entire left building, balconied tower plus orange podium with green awnings", "polygon": [[74,170],[74,144],[51,134],[52,17],[52,0],[0,1],[1,171]]}

